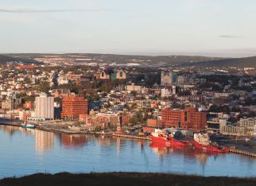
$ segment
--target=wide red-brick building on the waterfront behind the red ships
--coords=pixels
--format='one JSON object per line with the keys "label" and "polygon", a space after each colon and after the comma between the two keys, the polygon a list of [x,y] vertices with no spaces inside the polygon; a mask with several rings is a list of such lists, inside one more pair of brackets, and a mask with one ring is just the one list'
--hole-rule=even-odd
{"label": "wide red-brick building on the waterfront behind the red ships", "polygon": [[196,108],[184,110],[165,108],[161,112],[161,123],[165,127],[182,128],[183,130],[203,130],[207,126],[206,113]]}

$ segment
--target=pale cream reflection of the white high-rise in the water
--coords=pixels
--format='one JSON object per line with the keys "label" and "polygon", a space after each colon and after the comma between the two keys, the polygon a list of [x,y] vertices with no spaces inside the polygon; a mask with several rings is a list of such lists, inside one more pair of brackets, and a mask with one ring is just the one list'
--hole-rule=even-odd
{"label": "pale cream reflection of the white high-rise in the water", "polygon": [[45,151],[46,149],[52,149],[54,147],[54,134],[45,132],[42,130],[34,130],[35,132],[35,143],[36,150],[39,152]]}

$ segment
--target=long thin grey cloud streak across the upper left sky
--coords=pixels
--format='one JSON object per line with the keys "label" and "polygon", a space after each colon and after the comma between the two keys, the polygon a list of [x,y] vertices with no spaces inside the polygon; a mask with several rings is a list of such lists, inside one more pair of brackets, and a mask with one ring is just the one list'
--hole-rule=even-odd
{"label": "long thin grey cloud streak across the upper left sky", "polygon": [[17,9],[17,10],[8,10],[0,9],[0,13],[66,13],[66,12],[102,12],[108,11],[108,9],[48,9],[48,10],[35,10],[35,9]]}

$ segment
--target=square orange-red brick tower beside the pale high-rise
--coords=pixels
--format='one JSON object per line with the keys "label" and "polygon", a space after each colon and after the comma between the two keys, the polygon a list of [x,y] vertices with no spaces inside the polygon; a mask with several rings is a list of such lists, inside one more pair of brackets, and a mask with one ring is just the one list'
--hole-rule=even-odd
{"label": "square orange-red brick tower beside the pale high-rise", "polygon": [[79,119],[80,114],[87,114],[88,103],[81,96],[68,95],[62,99],[61,118]]}

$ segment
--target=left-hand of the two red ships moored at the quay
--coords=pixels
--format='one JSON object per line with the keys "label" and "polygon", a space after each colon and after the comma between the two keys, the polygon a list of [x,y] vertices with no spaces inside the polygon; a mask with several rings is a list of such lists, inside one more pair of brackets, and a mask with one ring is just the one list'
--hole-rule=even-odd
{"label": "left-hand of the two red ships moored at the quay", "polygon": [[185,147],[192,145],[190,141],[176,140],[172,135],[162,130],[156,130],[149,136],[149,138],[151,138],[153,142],[165,144],[167,146]]}

